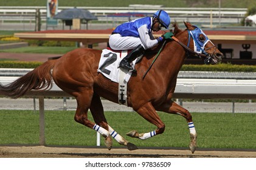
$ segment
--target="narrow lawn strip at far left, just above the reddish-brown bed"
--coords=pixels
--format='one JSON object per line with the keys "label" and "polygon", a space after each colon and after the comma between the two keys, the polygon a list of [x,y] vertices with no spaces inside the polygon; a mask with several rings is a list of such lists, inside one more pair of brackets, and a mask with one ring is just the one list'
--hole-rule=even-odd
{"label": "narrow lawn strip at far left, just above the reddish-brown bed", "polygon": [[56,53],[62,54],[70,52],[71,50],[76,49],[76,47],[36,47],[36,46],[29,46],[29,47],[20,47],[16,49],[6,49],[0,50],[0,52],[9,52],[9,53]]}

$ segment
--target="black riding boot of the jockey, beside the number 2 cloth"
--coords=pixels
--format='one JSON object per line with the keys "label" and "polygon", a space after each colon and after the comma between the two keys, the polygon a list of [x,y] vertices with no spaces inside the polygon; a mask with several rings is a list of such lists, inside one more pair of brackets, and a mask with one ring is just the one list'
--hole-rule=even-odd
{"label": "black riding boot of the jockey, beside the number 2 cloth", "polygon": [[128,55],[123,58],[123,60],[120,62],[119,67],[123,67],[128,70],[133,70],[133,67],[131,66],[131,62],[135,60],[138,56],[143,55],[145,52],[144,47],[142,45],[139,45],[136,47],[136,49],[133,49]]}

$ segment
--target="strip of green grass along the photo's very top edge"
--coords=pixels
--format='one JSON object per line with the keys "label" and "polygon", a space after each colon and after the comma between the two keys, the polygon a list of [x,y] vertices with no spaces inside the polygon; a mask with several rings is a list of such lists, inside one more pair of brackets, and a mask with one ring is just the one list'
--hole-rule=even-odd
{"label": "strip of green grass along the photo's very top edge", "polygon": [[[247,1],[235,1],[234,0],[225,0],[221,2],[221,7],[250,7],[254,3],[254,0]],[[151,5],[164,5],[164,7],[218,7],[218,1],[216,0],[129,0],[129,1],[120,1],[120,0],[95,0],[95,1],[81,1],[73,0],[61,0],[58,2],[59,6],[68,6],[68,7],[128,7],[129,4],[151,4]],[[9,0],[1,1],[1,6],[44,6],[46,1],[42,0]]]}

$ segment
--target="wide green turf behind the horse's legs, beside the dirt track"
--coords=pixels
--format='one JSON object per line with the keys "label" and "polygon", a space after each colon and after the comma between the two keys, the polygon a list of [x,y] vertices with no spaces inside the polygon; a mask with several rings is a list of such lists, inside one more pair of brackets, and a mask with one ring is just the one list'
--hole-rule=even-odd
{"label": "wide green turf behind the horse's legs, beside the dirt track", "polygon": [[[46,110],[46,144],[95,146],[96,132],[74,121],[74,111]],[[184,118],[159,113],[164,134],[147,140],[127,137],[133,129],[150,132],[155,127],[136,112],[106,112],[109,125],[137,146],[188,147],[189,130]],[[199,148],[256,149],[256,114],[193,113]],[[92,120],[91,114],[89,119]],[[30,110],[0,110],[0,144],[38,144],[39,115]],[[101,138],[101,144],[103,138]],[[120,146],[114,141],[113,146]]]}

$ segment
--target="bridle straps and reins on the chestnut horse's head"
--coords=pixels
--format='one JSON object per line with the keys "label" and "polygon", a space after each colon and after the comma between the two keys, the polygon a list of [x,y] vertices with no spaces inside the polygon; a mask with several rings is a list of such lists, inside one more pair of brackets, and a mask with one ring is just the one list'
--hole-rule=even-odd
{"label": "bridle straps and reins on the chestnut horse's head", "polygon": [[[215,50],[213,51],[213,53],[209,54],[207,53],[206,51],[209,50],[209,49],[212,49],[213,47],[215,47],[215,45],[213,44],[213,46],[207,48],[207,49],[202,49],[202,53],[199,53],[199,52],[195,52],[195,50],[192,50],[189,48],[189,44],[190,44],[190,39],[193,38],[194,42],[196,43],[195,45],[196,46],[199,46],[199,44],[197,43],[195,37],[190,33],[189,30],[187,30],[188,33],[189,33],[189,42],[187,44],[187,46],[185,44],[183,44],[181,41],[179,41],[178,38],[176,38],[175,36],[172,36],[171,38],[173,38],[173,40],[175,40],[176,42],[178,42],[182,47],[184,47],[185,50],[187,50],[187,56],[190,55],[190,53],[193,53],[194,55],[198,56],[199,58],[204,58],[204,63],[205,64],[210,64],[212,63],[212,56],[213,54],[215,53],[216,51],[216,48]],[[207,41],[208,42],[208,41]],[[206,42],[206,43],[207,43]]]}

